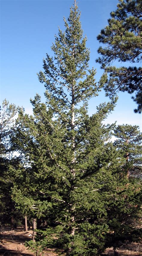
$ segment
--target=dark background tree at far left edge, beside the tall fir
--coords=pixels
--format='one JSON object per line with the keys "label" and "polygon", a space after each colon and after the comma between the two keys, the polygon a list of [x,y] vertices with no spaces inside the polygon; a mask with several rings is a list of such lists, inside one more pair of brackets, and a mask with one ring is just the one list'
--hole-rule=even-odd
{"label": "dark background tree at far left edge, beside the tall fir", "polygon": [[13,174],[9,171],[9,165],[13,162],[10,134],[14,125],[16,106],[9,104],[5,99],[2,102],[0,117],[0,206],[1,224],[10,224],[14,227],[14,203],[11,198],[11,187],[13,185]]}

